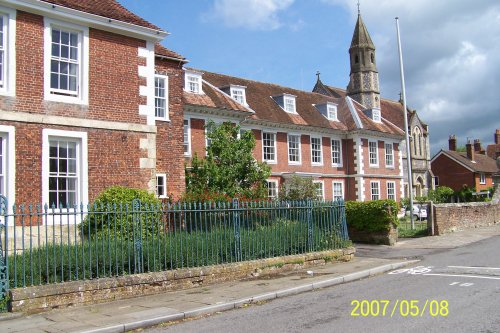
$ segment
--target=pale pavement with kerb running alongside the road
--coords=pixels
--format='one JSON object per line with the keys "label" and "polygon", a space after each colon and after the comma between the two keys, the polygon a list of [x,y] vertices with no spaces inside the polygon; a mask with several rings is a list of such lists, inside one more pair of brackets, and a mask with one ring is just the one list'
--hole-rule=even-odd
{"label": "pale pavement with kerb running alongside the road", "polygon": [[328,263],[273,277],[206,285],[96,305],[54,309],[28,316],[17,313],[0,314],[0,331],[126,332],[348,283],[416,264],[418,258],[411,260],[418,257],[412,255],[414,253],[443,251],[495,235],[500,235],[500,225],[444,236],[406,239],[394,247],[356,244],[359,253],[350,262]]}

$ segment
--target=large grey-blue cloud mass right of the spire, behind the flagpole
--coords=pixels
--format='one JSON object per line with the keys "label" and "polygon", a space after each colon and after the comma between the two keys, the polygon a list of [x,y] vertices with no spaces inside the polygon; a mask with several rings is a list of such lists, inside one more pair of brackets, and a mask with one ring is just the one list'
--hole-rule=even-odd
{"label": "large grey-blue cloud mass right of the spire, behind the flagpole", "polygon": [[[341,5],[353,17],[352,0]],[[428,123],[433,152],[456,134],[491,143],[500,128],[500,3],[498,0],[361,2],[377,47],[382,95],[397,98],[399,62],[394,18],[400,18],[409,106]]]}

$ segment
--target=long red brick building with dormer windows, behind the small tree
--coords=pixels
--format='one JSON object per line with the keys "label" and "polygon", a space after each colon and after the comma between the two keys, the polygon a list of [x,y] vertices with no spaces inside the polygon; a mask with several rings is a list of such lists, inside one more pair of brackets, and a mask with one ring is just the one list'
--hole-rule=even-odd
{"label": "long red brick building with dormer windows, behind the small tree", "polygon": [[271,166],[269,195],[294,175],[312,177],[326,200],[401,198],[403,133],[349,97],[186,70],[185,156],[203,156],[205,125],[251,130],[254,157]]}

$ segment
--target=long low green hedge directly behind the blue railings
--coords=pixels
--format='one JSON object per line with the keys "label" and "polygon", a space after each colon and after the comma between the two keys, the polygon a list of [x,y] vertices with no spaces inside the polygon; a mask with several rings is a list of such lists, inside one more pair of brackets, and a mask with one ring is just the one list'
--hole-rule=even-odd
{"label": "long low green hedge directly behind the blue railings", "polygon": [[[277,218],[266,225],[232,225],[208,231],[175,230],[133,239],[93,237],[72,245],[50,244],[9,257],[10,285],[41,285],[255,260],[350,246],[335,228]],[[239,246],[238,246],[239,245]],[[238,254],[238,247],[241,252]]]}

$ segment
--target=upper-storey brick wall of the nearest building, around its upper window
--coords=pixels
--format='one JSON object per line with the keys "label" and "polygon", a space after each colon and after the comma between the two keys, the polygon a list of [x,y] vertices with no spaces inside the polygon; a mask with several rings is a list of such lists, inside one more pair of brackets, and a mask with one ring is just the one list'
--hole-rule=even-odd
{"label": "upper-storey brick wall of the nearest building, around its upper window", "polygon": [[44,100],[44,20],[23,11],[16,19],[16,97],[0,96],[4,111],[23,111],[86,119],[146,123],[139,116],[138,66],[145,59],[138,48],[146,42],[89,29],[89,103],[58,103]]}

